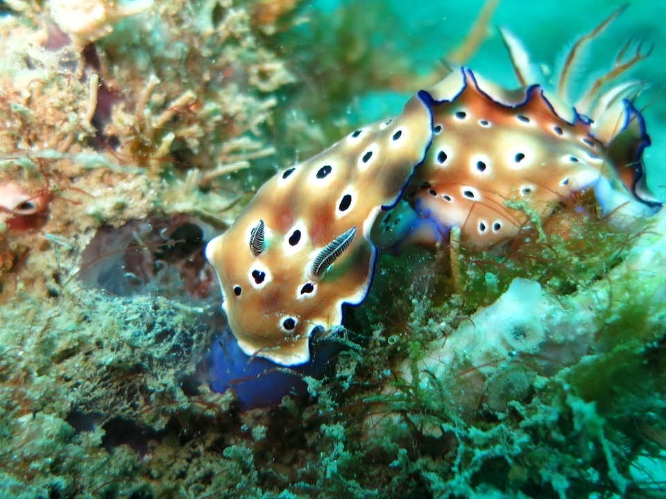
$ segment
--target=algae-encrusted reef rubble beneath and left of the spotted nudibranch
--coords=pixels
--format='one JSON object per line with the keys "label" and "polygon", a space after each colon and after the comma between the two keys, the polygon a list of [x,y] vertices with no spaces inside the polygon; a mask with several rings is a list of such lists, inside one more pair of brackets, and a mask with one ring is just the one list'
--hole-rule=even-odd
{"label": "algae-encrusted reef rubble beneath and left of the spotted nudibranch", "polygon": [[[664,211],[382,254],[306,396],[241,410],[210,388],[205,243],[353,130],[364,85],[418,73],[357,29],[336,45],[352,3],[0,6],[3,497],[664,496]],[[381,42],[400,19],[376,12]]]}

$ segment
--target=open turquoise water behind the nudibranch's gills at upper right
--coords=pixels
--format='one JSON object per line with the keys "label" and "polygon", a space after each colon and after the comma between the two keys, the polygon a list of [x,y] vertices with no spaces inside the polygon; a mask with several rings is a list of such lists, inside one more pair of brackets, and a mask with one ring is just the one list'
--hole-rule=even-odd
{"label": "open turquoise water behind the nudibranch's gills at upper right", "polygon": [[[333,15],[339,2],[322,0],[311,4],[326,15]],[[344,5],[344,2],[342,2]],[[485,2],[472,0],[464,3],[386,1],[370,2],[368,9],[381,10],[384,16],[399,19],[398,30],[392,30],[386,38],[391,49],[409,58],[412,68],[427,73],[437,67],[438,60],[458,46],[477,19]],[[646,88],[638,99],[639,107],[645,107],[644,116],[654,146],[646,152],[651,188],[658,198],[666,196],[666,132],[659,123],[666,120],[666,44],[663,43],[663,26],[660,19],[666,17],[666,5],[660,1],[639,0],[586,0],[545,1],[529,3],[522,0],[502,0],[486,30],[486,40],[465,64],[481,76],[509,88],[517,87],[506,48],[497,27],[508,28],[524,44],[534,64],[544,64],[551,71],[561,64],[572,44],[589,33],[602,19],[614,10],[628,6],[599,37],[595,39],[583,63],[579,67],[579,81],[587,82],[588,73],[598,73],[612,64],[624,44],[633,40],[654,44],[651,56],[630,71],[627,78],[646,82]],[[382,16],[369,16],[375,21],[375,30],[384,33],[378,23]],[[373,27],[366,26],[368,35]],[[382,45],[386,40],[382,40]],[[394,48],[395,47],[395,48]],[[379,48],[381,50],[381,48]],[[620,79],[622,81],[622,78]],[[581,85],[584,87],[584,84]],[[370,95],[369,119],[380,119],[399,112],[408,94]],[[362,107],[362,106],[361,106]]]}

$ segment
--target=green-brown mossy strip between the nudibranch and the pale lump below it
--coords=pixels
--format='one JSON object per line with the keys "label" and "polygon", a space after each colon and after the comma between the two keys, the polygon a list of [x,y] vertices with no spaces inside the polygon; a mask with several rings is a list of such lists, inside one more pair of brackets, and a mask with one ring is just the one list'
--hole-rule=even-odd
{"label": "green-brown mossy strip between the nudibranch and the pale lump below it", "polygon": [[[404,353],[406,342],[434,340],[468,320],[517,277],[537,281],[557,297],[586,290],[622,262],[635,240],[649,231],[649,223],[637,220],[631,229],[614,228],[587,199],[536,220],[538,228],[525,225],[518,238],[487,251],[459,243],[453,231],[435,252],[413,247],[397,256],[382,254],[368,299],[348,310],[345,327],[351,338],[364,336],[360,331],[381,331],[389,351]],[[627,305],[626,313],[631,310],[644,314]],[[629,331],[621,320],[615,317],[609,325],[599,319],[600,327]],[[626,317],[628,323],[635,320],[640,319]]]}

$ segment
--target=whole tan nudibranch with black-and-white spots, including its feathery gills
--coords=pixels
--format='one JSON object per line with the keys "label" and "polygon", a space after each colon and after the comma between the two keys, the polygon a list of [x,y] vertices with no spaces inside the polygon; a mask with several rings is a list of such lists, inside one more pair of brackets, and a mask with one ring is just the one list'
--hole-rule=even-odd
{"label": "whole tan nudibranch with black-and-white spots, including its feathery gills", "polygon": [[528,213],[547,217],[588,189],[618,219],[657,211],[642,164],[650,141],[631,102],[640,82],[608,85],[647,56],[640,46],[567,103],[579,51],[618,13],[574,44],[554,93],[502,30],[520,89],[463,67],[399,116],[266,182],[206,248],[240,349],[278,365],[308,362],[311,335],[339,326],[343,304],[366,297],[378,248],[434,245],[452,227],[468,245],[495,247]]}

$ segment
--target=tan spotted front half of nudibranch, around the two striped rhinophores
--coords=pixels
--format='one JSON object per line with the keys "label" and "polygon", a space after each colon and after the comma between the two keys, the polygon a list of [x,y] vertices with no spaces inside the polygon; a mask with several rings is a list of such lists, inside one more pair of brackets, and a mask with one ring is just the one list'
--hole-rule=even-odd
{"label": "tan spotted front half of nudibranch, around the two striped rhinophores", "polygon": [[[424,103],[413,97],[390,123],[375,123],[350,134],[321,154],[279,172],[266,182],[234,225],[212,240],[206,255],[222,288],[223,309],[239,345],[282,365],[309,360],[308,339],[317,326],[341,324],[342,306],[360,303],[368,291],[375,249],[368,238],[382,206],[395,203],[421,161],[432,134]],[[400,137],[393,139],[400,130]],[[367,162],[364,156],[372,151]],[[323,166],[330,174],[317,177]],[[343,196],[352,196],[341,211]],[[266,223],[266,249],[255,256],[250,232]],[[323,247],[352,227],[357,236],[321,277],[311,264]],[[297,245],[289,238],[300,230]],[[257,286],[251,272],[266,272]],[[311,283],[314,291],[302,293]],[[234,288],[240,286],[237,296]],[[296,326],[287,331],[284,320]]]}

